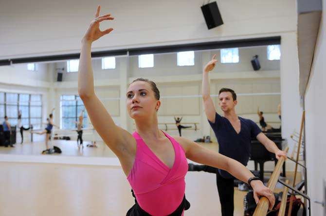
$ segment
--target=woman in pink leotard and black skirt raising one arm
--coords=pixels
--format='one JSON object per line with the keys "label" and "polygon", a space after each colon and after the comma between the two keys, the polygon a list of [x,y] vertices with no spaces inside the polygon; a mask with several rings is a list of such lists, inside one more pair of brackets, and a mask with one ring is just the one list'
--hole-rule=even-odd
{"label": "woman in pink leotard and black skirt raising one arm", "polygon": [[[184,176],[188,170],[186,158],[227,170],[243,182],[253,177],[245,166],[233,159],[183,137],[171,137],[160,131],[157,120],[157,111],[161,106],[160,92],[151,81],[137,79],[127,89],[127,111],[135,121],[136,131],[130,134],[115,125],[94,92],[91,44],[113,30],[100,30],[100,22],[113,17],[109,14],[99,16],[99,13],[98,6],[95,19],[82,39],[78,93],[94,128],[119,158],[132,187],[135,205],[129,209],[127,216],[182,216],[189,208],[184,195]],[[251,186],[256,201],[258,196],[265,196],[272,208],[275,202],[272,191],[260,181],[252,181]]]}

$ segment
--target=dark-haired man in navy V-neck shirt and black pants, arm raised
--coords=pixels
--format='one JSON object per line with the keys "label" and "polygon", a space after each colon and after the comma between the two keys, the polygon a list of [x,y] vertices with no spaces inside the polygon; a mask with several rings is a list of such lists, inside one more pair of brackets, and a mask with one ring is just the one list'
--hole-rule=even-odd
{"label": "dark-haired man in navy V-neck shirt and black pants, arm raised", "polygon": [[[218,93],[218,105],[221,107],[224,117],[217,114],[214,102],[210,96],[208,72],[213,70],[217,60],[216,55],[207,63],[203,69],[202,77],[202,99],[204,102],[205,114],[211,125],[218,142],[219,153],[233,158],[247,166],[250,157],[250,142],[256,137],[267,150],[275,153],[276,158],[287,156],[285,151],[279,150],[275,143],[261,132],[254,121],[238,117],[235,113],[237,104],[236,94],[232,89],[222,88]],[[234,211],[234,177],[221,169],[210,166],[190,165],[192,171],[216,172],[217,190],[221,203],[222,216],[233,216]],[[256,199],[256,198],[255,198]]]}

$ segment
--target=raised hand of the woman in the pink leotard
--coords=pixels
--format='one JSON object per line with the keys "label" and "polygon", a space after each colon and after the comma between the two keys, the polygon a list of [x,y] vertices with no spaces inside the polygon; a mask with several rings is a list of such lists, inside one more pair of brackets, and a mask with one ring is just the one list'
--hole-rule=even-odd
{"label": "raised hand of the woman in the pink leotard", "polygon": [[110,14],[99,16],[100,8],[100,5],[98,5],[95,14],[95,19],[91,21],[90,27],[85,33],[82,42],[92,43],[93,41],[97,40],[103,35],[110,33],[113,30],[112,28],[106,29],[105,31],[100,30],[100,22],[102,22],[103,20],[114,19],[113,17],[110,17]]}

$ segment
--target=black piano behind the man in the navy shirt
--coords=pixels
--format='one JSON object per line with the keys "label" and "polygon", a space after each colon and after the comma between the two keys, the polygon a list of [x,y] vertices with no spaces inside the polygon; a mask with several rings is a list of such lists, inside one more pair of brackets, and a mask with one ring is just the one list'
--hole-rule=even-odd
{"label": "black piano behind the man in the navy shirt", "polygon": [[[285,149],[287,142],[282,139],[281,132],[273,130],[263,133],[265,133],[265,135],[270,138],[280,150]],[[262,180],[264,180],[264,163],[266,161],[274,161],[275,165],[277,164],[275,154],[269,152],[256,138],[251,140],[250,160],[254,161],[254,170],[257,170],[259,164],[259,174]],[[285,162],[283,164],[283,172],[281,173],[281,176],[285,177]]]}

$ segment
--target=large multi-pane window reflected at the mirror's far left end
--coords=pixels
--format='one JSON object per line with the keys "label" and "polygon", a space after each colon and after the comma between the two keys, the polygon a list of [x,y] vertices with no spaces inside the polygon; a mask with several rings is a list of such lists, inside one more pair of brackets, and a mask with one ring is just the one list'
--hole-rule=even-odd
{"label": "large multi-pane window reflected at the mirror's far left end", "polygon": [[19,110],[21,110],[21,122],[25,128],[28,128],[30,124],[33,124],[33,129],[41,128],[41,95],[0,92],[1,122],[3,122],[4,116],[8,116],[10,125],[17,125]]}

